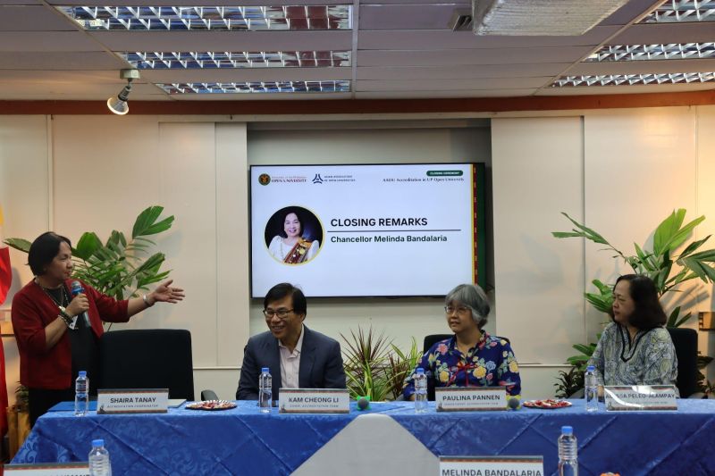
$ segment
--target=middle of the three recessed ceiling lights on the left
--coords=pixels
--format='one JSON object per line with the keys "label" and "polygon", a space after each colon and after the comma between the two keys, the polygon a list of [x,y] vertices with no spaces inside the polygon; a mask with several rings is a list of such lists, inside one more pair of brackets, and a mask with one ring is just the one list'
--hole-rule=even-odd
{"label": "middle of the three recessed ceiling lights on the left", "polygon": [[139,70],[330,68],[350,65],[349,51],[123,52]]}

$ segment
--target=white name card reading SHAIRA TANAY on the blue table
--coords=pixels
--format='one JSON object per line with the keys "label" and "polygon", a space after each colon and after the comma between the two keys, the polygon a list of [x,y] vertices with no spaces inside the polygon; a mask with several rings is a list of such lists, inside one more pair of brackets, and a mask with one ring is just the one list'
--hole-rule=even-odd
{"label": "white name card reading SHAIRA TANAY on the blue table", "polygon": [[169,388],[135,388],[97,390],[97,414],[166,413]]}

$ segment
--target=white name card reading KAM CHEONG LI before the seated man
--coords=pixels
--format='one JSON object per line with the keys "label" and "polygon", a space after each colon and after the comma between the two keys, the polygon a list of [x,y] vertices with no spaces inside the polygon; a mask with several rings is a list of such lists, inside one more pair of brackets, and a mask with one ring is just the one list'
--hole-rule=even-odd
{"label": "white name card reading KAM CHEONG LI before the seated man", "polygon": [[345,388],[281,388],[278,413],[349,413]]}

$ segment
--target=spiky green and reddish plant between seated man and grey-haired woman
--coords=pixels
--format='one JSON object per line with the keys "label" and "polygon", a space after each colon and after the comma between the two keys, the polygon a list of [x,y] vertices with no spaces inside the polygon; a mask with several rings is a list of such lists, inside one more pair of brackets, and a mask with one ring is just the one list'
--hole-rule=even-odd
{"label": "spiky green and reddish plant between seated man and grey-haired woman", "polygon": [[346,344],[343,366],[350,397],[370,397],[371,401],[400,397],[405,378],[422,356],[415,339],[405,353],[372,327],[367,331],[358,327],[357,332],[350,330],[349,337],[341,334],[341,338]]}

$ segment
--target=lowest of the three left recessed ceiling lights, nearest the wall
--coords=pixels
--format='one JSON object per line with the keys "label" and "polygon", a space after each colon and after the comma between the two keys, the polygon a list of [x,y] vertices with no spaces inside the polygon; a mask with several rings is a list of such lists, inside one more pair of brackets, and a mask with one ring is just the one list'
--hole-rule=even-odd
{"label": "lowest of the three left recessed ceiling lights, nearest the wall", "polygon": [[157,83],[175,94],[241,94],[241,93],[347,93],[349,80],[339,81],[251,81],[238,83]]}

